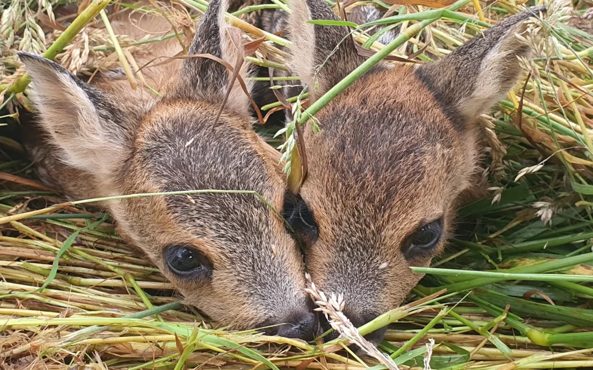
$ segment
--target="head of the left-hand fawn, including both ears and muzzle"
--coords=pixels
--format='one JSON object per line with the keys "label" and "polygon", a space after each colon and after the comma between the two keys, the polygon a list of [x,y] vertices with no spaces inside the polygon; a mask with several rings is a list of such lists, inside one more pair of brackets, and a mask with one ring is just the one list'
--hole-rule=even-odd
{"label": "head of the left-hand fawn, including both ears and muzzle", "polygon": [[[224,24],[224,11],[219,0],[210,2],[190,55],[208,53],[230,65],[243,57],[238,30]],[[28,147],[49,182],[77,198],[256,191],[275,210],[254,194],[232,193],[105,205],[122,236],[148,255],[187,303],[214,320],[235,329],[286,323],[272,332],[313,335],[302,257],[276,211],[282,210],[284,180],[267,144],[252,130],[248,99],[238,83],[213,122],[231,72],[214,60],[191,57],[180,63],[162,98],[137,98],[125,80],[107,75],[89,85],[42,57],[19,55],[33,82],[31,96],[46,139]],[[172,65],[143,72],[158,83]],[[247,73],[241,70],[243,77]]]}

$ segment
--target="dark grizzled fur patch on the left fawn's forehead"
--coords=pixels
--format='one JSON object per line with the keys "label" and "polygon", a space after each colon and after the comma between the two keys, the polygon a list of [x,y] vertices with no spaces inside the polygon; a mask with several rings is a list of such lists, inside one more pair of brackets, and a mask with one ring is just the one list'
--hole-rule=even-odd
{"label": "dark grizzled fur patch on the left fawn's forehead", "polygon": [[[250,149],[243,134],[236,128],[221,124],[212,128],[199,111],[187,117],[177,117],[169,123],[158,124],[146,134],[146,144],[139,149],[142,161],[151,169],[153,181],[162,191],[200,189],[248,190],[265,194],[271,190],[269,178],[259,154]],[[193,116],[194,118],[190,117]],[[183,124],[179,124],[183,123]],[[227,138],[227,146],[212,150],[212,142]],[[191,144],[187,145],[191,141]],[[212,170],[216,169],[216,170]],[[243,170],[240,170],[243,169]],[[243,172],[241,175],[238,172]],[[253,194],[193,194],[167,197],[167,203],[178,218],[195,218],[192,224],[204,225],[205,230],[226,230],[216,235],[231,244],[241,241],[241,230],[267,224],[269,208]],[[217,204],[218,209],[211,205]],[[201,216],[200,216],[201,215]],[[203,220],[200,220],[203,218]],[[208,220],[205,220],[208,218]],[[228,232],[232,228],[235,232]],[[199,228],[192,230],[199,234]],[[253,230],[253,236],[262,231]],[[257,241],[254,240],[254,243]]]}

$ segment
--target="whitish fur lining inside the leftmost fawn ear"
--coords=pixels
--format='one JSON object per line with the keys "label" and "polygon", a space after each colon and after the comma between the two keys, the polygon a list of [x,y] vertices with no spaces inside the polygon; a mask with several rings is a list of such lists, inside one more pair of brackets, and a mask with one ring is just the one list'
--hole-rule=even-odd
{"label": "whitish fur lining inside the leftmost fawn ear", "polygon": [[[62,153],[62,162],[95,175],[112,172],[122,155],[122,140],[98,112],[98,97],[87,92],[66,72],[40,61],[25,62],[31,75],[31,100],[48,140]],[[113,103],[113,102],[111,102]]]}

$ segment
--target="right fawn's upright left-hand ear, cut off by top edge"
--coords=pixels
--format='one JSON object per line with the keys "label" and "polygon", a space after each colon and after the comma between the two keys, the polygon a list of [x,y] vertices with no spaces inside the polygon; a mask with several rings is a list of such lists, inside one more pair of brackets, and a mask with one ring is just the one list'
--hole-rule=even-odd
{"label": "right fawn's upright left-hand ear, cut off by top edge", "polygon": [[[292,60],[290,69],[308,84],[312,100],[323,95],[364,62],[345,26],[310,24],[310,20],[339,20],[324,0],[289,0],[288,18]],[[316,71],[315,69],[320,68]]]}

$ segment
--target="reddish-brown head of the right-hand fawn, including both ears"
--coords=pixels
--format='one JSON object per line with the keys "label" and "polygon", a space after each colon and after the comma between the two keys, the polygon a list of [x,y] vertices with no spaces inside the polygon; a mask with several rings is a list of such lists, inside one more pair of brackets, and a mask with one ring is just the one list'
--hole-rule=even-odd
{"label": "reddish-brown head of the right-hand fawn, including both ears", "polygon": [[[314,100],[364,58],[346,27],[307,23],[337,20],[323,0],[290,4],[290,66]],[[409,266],[442,252],[476,172],[476,120],[517,82],[517,57],[529,49],[515,33],[540,11],[509,17],[435,63],[377,65],[318,112],[318,134],[305,128],[309,170],[288,217],[313,281],[344,295],[353,324],[397,307],[422,277]]]}

